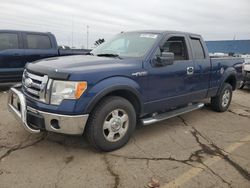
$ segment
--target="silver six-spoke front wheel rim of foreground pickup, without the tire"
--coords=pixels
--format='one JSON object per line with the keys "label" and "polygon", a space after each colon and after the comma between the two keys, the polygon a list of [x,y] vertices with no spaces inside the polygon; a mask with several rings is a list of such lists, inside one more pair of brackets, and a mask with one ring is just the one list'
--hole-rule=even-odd
{"label": "silver six-spoke front wheel rim of foreground pickup, without the tire", "polygon": [[122,109],[115,109],[104,120],[103,135],[109,142],[116,142],[126,134],[128,126],[128,114]]}

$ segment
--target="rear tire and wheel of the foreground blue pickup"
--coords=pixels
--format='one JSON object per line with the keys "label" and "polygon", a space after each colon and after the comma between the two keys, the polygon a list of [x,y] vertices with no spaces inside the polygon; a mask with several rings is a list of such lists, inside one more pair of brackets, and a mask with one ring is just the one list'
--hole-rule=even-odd
{"label": "rear tire and wheel of the foreground blue pickup", "polygon": [[227,111],[233,95],[232,86],[228,83],[224,83],[219,95],[211,98],[212,109],[217,112]]}

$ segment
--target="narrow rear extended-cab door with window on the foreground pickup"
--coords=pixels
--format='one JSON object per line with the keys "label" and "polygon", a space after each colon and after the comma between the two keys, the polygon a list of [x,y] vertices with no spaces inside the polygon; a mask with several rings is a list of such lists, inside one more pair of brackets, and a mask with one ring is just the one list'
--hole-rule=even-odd
{"label": "narrow rear extended-cab door with window on the foreground pickup", "polygon": [[192,57],[194,61],[194,91],[195,100],[204,99],[207,96],[210,75],[211,75],[211,61],[207,48],[200,36],[192,35],[189,37],[190,46],[192,49]]}

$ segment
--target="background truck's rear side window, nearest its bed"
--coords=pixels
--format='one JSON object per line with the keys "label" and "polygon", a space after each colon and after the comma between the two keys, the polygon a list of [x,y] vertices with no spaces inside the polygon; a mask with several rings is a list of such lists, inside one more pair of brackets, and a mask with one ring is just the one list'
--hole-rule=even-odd
{"label": "background truck's rear side window, nearest its bed", "polygon": [[51,49],[51,42],[46,35],[27,34],[27,45],[29,49]]}

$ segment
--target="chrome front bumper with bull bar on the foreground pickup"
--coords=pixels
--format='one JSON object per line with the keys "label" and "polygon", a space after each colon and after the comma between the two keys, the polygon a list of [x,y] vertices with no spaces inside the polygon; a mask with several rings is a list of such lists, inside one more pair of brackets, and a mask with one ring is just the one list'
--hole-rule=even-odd
{"label": "chrome front bumper with bull bar on the foreground pickup", "polygon": [[36,110],[26,105],[24,94],[15,87],[9,90],[8,107],[17,120],[30,133],[39,133],[41,129],[29,124],[27,121],[28,112],[43,119],[45,130],[71,135],[83,134],[89,116],[88,114],[62,115]]}

